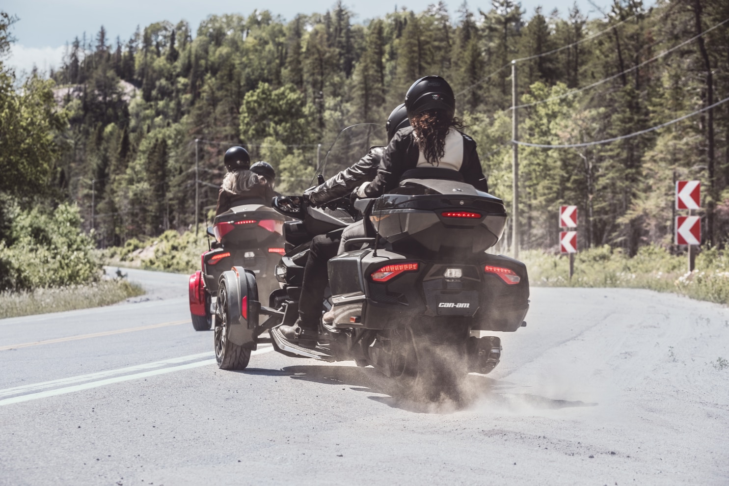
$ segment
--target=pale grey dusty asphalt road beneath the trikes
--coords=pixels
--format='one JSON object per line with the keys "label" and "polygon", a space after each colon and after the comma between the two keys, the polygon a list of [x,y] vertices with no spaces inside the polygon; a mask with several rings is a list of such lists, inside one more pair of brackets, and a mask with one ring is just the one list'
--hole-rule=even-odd
{"label": "pale grey dusty asphalt road beneath the trikes", "polygon": [[720,305],[532,289],[499,367],[434,405],[268,345],[223,372],[187,277],[125,272],[152,292],[0,320],[0,485],[729,484]]}

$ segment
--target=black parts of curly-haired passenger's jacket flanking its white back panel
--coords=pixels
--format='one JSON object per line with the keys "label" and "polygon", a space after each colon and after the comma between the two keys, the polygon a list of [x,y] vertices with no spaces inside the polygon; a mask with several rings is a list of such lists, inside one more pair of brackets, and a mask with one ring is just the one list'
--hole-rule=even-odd
{"label": "black parts of curly-haired passenger's jacket flanking its white back panel", "polygon": [[[488,181],[483,175],[481,162],[478,159],[476,142],[464,133],[461,135],[464,138],[463,162],[459,172],[467,184],[471,184],[480,191],[488,192]],[[420,149],[413,136],[413,128],[400,129],[392,137],[378,167],[377,176],[370,184],[367,184],[364,193],[367,197],[378,197],[397,187],[400,176],[408,169],[416,168],[419,155]]]}

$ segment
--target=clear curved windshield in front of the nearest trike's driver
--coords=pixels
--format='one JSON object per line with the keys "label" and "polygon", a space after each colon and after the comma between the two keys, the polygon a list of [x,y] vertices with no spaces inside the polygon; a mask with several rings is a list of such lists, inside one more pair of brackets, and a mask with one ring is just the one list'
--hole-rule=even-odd
{"label": "clear curved windshield in front of the nearest trike's driver", "polygon": [[[324,176],[324,180],[339,171],[353,165],[369,152],[371,146],[383,146],[387,143],[385,124],[361,123],[341,130],[322,154],[319,170],[316,175]],[[324,149],[326,144],[322,144]],[[313,179],[311,185],[318,185]]]}

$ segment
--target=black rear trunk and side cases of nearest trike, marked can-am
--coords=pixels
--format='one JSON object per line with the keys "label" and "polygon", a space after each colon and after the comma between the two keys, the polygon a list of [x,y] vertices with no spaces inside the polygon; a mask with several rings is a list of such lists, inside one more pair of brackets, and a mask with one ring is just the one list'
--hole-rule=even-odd
{"label": "black rear trunk and side cases of nearest trike, marked can-am", "polygon": [[392,329],[426,316],[518,329],[529,309],[526,267],[485,253],[504,230],[502,201],[456,181],[408,180],[397,192],[375,200],[370,216],[387,249],[329,262],[335,326]]}

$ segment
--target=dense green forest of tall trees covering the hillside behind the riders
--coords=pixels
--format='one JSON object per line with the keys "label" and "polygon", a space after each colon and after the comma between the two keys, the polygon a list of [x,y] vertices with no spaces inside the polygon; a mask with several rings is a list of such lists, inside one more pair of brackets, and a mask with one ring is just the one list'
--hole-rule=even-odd
{"label": "dense green forest of tall trees covering the hillside behind the riders", "polygon": [[[2,68],[3,96],[15,99],[2,103],[36,111],[39,127],[16,134],[12,120],[0,120],[0,192],[6,206],[10,197],[20,208],[75,203],[100,247],[182,232],[195,225],[196,174],[205,223],[229,146],[274,165],[279,191],[300,192],[340,130],[383,127],[415,79],[440,74],[491,193],[510,208],[517,60],[518,140],[586,144],[519,147],[522,248],[554,250],[558,206],[574,204],[581,248],[675,251],[679,179],[701,180],[703,240],[724,245],[729,103],[707,107],[729,97],[729,2],[614,0],[603,13],[588,20],[576,6],[525,12],[491,0],[355,21],[339,1],[324,13],[284,19],[257,10],[199,26],[170,12],[174,21],[140,26],[128,39],[109,39],[104,27],[79,33],[55,71],[20,83]],[[23,139],[31,132],[43,138],[34,146]],[[381,143],[383,130],[370,135],[367,143]],[[364,155],[366,144],[354,145],[330,154],[325,176]]]}

